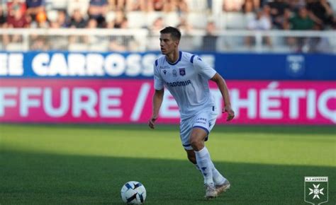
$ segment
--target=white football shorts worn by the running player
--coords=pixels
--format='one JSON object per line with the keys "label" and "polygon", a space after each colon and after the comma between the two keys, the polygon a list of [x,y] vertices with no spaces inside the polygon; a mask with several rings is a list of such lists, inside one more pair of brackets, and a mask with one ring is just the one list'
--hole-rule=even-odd
{"label": "white football shorts worn by the running player", "polygon": [[[210,133],[211,129],[215,125],[215,120],[218,116],[218,110],[213,106],[209,110],[203,110],[199,112],[197,115],[193,117],[189,117],[187,119],[181,119],[179,125],[179,133],[181,137],[182,146],[186,150],[192,150],[189,138],[191,134],[191,130],[194,127],[199,127],[204,129],[207,134]],[[206,140],[208,140],[208,135],[206,136]]]}

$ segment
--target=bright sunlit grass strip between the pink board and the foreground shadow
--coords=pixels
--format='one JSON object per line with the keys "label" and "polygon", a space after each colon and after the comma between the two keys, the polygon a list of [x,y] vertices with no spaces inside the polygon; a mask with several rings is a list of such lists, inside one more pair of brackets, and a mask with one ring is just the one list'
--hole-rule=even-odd
{"label": "bright sunlit grass strip between the pink board and the foreground shadow", "polygon": [[[301,132],[299,132],[301,130]],[[320,131],[319,131],[320,130]],[[0,125],[1,146],[16,151],[185,160],[178,126]],[[336,166],[333,127],[224,127],[206,146],[215,161]]]}

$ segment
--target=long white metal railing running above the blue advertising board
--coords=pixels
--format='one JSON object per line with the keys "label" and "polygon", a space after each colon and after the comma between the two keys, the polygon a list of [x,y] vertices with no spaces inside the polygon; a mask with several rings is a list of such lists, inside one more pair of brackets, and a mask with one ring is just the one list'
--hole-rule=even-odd
{"label": "long white metal railing running above the blue advertising board", "polygon": [[[336,54],[336,31],[182,30],[180,48],[208,52],[325,52]],[[159,32],[147,29],[0,29],[2,51],[159,50]]]}

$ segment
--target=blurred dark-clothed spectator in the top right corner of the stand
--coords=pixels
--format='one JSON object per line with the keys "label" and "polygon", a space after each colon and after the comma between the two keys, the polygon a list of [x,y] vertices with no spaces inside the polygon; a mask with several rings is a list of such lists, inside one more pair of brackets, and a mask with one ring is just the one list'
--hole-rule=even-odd
{"label": "blurred dark-clothed spectator in the top right corner of the stand", "polygon": [[322,28],[332,24],[333,13],[327,0],[307,0],[309,17]]}

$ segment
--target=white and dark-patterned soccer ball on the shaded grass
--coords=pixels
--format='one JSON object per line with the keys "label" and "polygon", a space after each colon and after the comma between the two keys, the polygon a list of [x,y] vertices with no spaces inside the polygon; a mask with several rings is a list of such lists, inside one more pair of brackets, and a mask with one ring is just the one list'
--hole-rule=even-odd
{"label": "white and dark-patterned soccer ball on the shaded grass", "polygon": [[146,189],[140,182],[127,182],[121,188],[121,199],[127,204],[142,204],[146,199]]}

